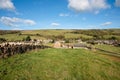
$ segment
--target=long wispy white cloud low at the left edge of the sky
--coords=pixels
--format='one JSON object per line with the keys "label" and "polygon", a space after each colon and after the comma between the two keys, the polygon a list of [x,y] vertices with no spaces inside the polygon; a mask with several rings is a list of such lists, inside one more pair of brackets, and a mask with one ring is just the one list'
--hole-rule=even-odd
{"label": "long wispy white cloud low at the left edge of the sky", "polygon": [[18,27],[18,26],[28,26],[28,25],[35,25],[35,21],[29,19],[21,19],[16,17],[1,17],[0,22],[11,27]]}

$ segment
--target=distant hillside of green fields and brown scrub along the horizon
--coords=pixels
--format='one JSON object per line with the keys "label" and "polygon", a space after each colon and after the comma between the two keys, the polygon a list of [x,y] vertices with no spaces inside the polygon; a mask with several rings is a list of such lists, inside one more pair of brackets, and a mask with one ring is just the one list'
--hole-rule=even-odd
{"label": "distant hillside of green fields and brown scrub along the horizon", "polygon": [[[0,38],[5,38],[7,41],[22,40],[26,36],[30,36],[32,39],[115,39],[120,41],[120,29],[108,29],[108,30],[21,30],[13,32],[0,31]],[[12,34],[11,34],[12,33]],[[61,38],[62,36],[62,38]],[[97,36],[97,37],[96,37]]]}

